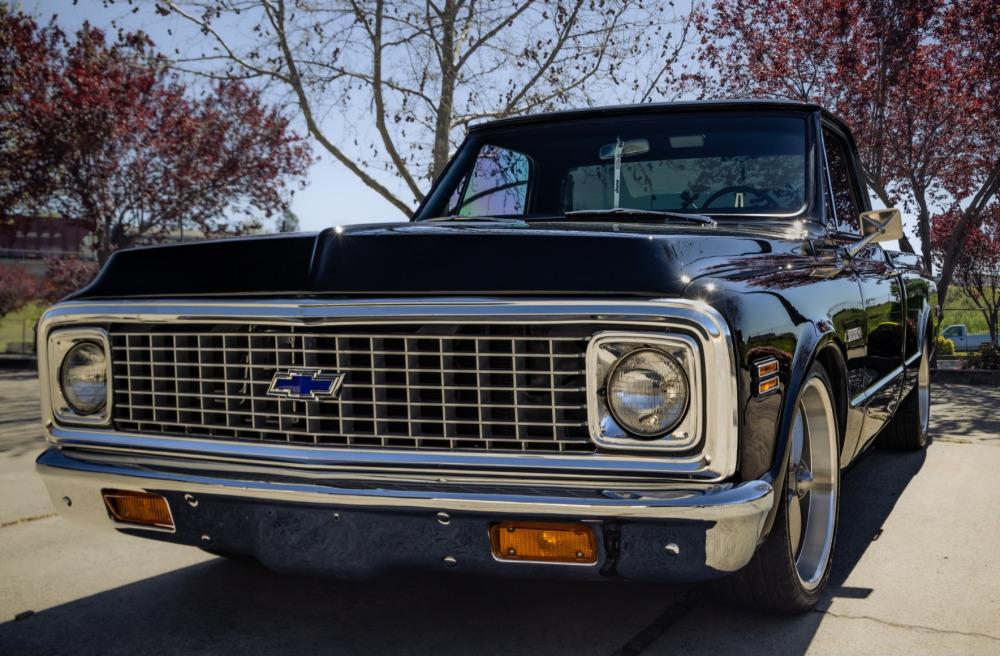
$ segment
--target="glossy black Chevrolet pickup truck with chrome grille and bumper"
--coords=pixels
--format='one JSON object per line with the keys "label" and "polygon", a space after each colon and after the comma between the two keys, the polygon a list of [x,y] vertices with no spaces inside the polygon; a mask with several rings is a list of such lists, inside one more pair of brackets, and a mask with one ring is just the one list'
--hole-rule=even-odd
{"label": "glossy black Chevrolet pickup truck with chrome grille and bumper", "polygon": [[487,123],[408,223],[116,253],[40,323],[38,471],[70,519],[278,570],[804,610],[841,470],[927,441],[901,234],[820,107]]}

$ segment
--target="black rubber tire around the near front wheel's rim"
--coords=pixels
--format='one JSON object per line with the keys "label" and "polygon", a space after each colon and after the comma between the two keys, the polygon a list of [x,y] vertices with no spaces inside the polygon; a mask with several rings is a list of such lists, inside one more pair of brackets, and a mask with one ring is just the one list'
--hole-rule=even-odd
{"label": "black rubber tire around the near front wheel's rim", "polygon": [[[812,369],[810,369],[809,375],[803,382],[803,392],[807,384],[814,378],[818,379],[825,387],[826,393],[832,402],[835,398],[833,395],[833,386],[823,366],[819,363],[813,365]],[[800,392],[800,399],[796,400],[796,412],[798,412],[798,408],[800,407],[801,396],[802,392]],[[810,584],[806,585],[798,571],[789,522],[789,504],[792,503],[789,496],[791,483],[788,482],[789,477],[786,476],[783,479],[780,489],[778,489],[779,486],[775,486],[775,502],[780,505],[774,520],[774,526],[771,528],[771,533],[764,541],[764,544],[757,549],[757,553],[747,566],[722,582],[723,585],[719,592],[723,594],[724,600],[736,603],[745,608],[776,613],[806,612],[811,610],[820,600],[827,580],[830,577],[840,509],[839,456],[841,428],[837,419],[837,413],[832,411],[830,416],[832,418],[834,439],[836,439],[836,444],[831,445],[836,454],[836,460],[832,467],[832,480],[834,482],[832,491],[833,518],[832,534],[829,535],[829,550],[825,559],[825,565],[817,568],[817,570],[820,567],[822,568],[821,576],[818,578],[818,581],[812,579],[809,582]],[[789,439],[791,440],[792,436],[789,436]],[[792,450],[793,448],[790,445],[790,456]],[[791,463],[789,463],[789,467],[791,467]],[[796,496],[795,502],[798,503],[798,496]],[[799,521],[801,522],[801,515]],[[805,529],[801,523],[799,526],[799,535],[803,536]],[[800,544],[802,540],[804,540],[804,537],[799,538]]]}

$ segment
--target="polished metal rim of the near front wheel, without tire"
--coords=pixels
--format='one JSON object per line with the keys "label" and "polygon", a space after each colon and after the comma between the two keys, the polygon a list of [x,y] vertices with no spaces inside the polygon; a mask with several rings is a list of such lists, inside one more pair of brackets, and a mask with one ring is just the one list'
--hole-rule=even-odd
{"label": "polished metal rim of the near front wheel, without tire", "polygon": [[837,423],[819,377],[802,390],[792,424],[786,503],[789,546],[799,583],[815,590],[826,573],[837,523],[840,484]]}

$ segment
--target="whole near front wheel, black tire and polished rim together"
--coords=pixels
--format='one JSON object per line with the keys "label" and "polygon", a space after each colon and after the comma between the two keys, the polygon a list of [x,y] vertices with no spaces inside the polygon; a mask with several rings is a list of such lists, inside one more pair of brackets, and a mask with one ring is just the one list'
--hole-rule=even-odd
{"label": "whole near front wheel, black tire and polished rim together", "polygon": [[830,576],[840,506],[840,433],[830,379],[809,371],[795,404],[788,475],[764,544],[730,577],[732,599],[772,612],[800,613],[819,601]]}

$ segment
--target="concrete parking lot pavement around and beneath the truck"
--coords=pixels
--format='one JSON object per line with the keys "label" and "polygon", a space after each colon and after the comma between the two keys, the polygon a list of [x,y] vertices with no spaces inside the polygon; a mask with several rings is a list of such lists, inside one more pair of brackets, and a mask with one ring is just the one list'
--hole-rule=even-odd
{"label": "concrete parking lot pavement around and beneath the truck", "polygon": [[1000,390],[935,390],[926,452],[844,478],[832,585],[772,617],[706,586],[292,577],[94,533],[33,461],[37,380],[0,373],[0,654],[1000,654]]}

